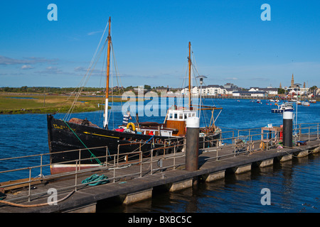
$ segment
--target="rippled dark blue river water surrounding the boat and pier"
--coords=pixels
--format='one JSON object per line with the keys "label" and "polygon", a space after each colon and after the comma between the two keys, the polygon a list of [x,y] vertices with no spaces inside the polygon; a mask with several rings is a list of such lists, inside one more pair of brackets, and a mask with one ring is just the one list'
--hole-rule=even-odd
{"label": "rippled dark blue river water surrounding the boat and pier", "polygon": [[[148,101],[145,101],[148,104]],[[215,124],[223,131],[230,128],[260,128],[272,123],[274,126],[282,124],[282,114],[272,114],[271,109],[277,108],[274,103],[262,104],[250,100],[213,99],[205,104],[215,104],[223,107]],[[171,105],[169,101],[169,106]],[[112,106],[110,128],[122,122],[121,106]],[[156,109],[151,109],[153,114]],[[159,115],[161,111],[159,109]],[[294,110],[295,112],[295,110]],[[207,123],[210,121],[208,114]],[[148,113],[144,114],[148,115]],[[154,114],[156,115],[156,114]],[[56,114],[56,118],[63,118],[64,114]],[[320,104],[298,106],[297,123],[320,122]],[[85,118],[101,126],[101,113],[73,114],[73,117]],[[133,121],[134,118],[133,118]],[[164,116],[139,115],[139,121],[164,121]],[[45,114],[0,115],[0,159],[23,155],[48,153],[48,138]],[[48,158],[43,158],[48,163]],[[23,160],[0,161],[0,171],[13,167],[28,167],[40,165],[40,158]],[[252,169],[242,175],[225,175],[224,179],[210,184],[199,184],[197,187],[178,193],[154,193],[152,199],[129,206],[119,205],[112,208],[105,207],[102,212],[306,212],[320,211],[320,155],[314,154],[292,161],[277,163],[272,167]],[[40,172],[34,171],[32,177]],[[45,168],[43,175],[48,175]],[[10,179],[27,178],[28,170],[0,174],[0,182]],[[262,189],[270,190],[270,205],[262,205],[264,194]]]}

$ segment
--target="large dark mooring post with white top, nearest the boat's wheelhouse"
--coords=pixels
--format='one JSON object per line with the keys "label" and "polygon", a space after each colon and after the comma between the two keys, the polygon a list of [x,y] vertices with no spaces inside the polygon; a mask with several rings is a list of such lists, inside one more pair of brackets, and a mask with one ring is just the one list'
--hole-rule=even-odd
{"label": "large dark mooring post with white top, nearest the boat's wheelhouse", "polygon": [[186,170],[198,170],[199,154],[199,118],[191,117],[186,120]]}

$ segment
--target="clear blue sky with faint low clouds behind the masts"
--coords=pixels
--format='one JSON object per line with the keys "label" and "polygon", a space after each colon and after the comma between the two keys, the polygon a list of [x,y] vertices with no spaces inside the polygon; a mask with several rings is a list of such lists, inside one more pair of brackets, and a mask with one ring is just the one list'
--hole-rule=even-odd
{"label": "clear blue sky with faint low clouds behind the masts", "polygon": [[[48,21],[48,4],[58,21]],[[262,21],[262,4],[271,21]],[[320,87],[319,1],[3,1],[0,87],[76,87],[112,17],[124,87],[182,87],[188,42],[205,84]],[[101,61],[103,61],[101,57]],[[97,65],[87,86],[103,87]],[[117,80],[112,80],[117,85]]]}

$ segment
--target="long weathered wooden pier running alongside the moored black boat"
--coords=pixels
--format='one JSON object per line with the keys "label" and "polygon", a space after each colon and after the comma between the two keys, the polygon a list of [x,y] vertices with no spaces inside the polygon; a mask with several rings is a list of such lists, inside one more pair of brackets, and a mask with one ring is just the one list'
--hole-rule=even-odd
{"label": "long weathered wooden pier running alongside the moored black boat", "polygon": [[[68,175],[26,179],[20,188],[13,187],[13,182],[10,187],[8,183],[0,183],[0,189],[6,194],[6,199],[2,201],[11,203],[0,202],[0,213],[96,212],[97,204],[103,204],[107,199],[132,204],[152,199],[154,189],[176,192],[193,187],[195,182],[213,182],[225,177],[226,173],[238,175],[253,167],[270,166],[274,162],[320,152],[319,125],[316,135],[302,135],[300,139],[305,143],[292,148],[276,146],[265,149],[260,148],[263,140],[252,140],[249,145],[255,149],[247,147],[238,151],[236,143],[201,149],[196,171],[185,170],[185,153],[180,152],[151,155],[134,162],[114,162]],[[99,185],[82,184],[84,179],[92,175],[103,175],[107,177],[107,182]],[[55,201],[58,202],[54,204]]]}

